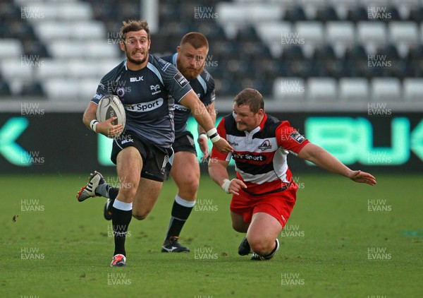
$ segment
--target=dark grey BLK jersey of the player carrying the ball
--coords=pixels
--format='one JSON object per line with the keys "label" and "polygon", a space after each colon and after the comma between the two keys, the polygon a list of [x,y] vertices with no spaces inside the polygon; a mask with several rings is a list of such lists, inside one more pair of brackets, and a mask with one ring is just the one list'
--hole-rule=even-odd
{"label": "dark grey BLK jersey of the player carrying the ball", "polygon": [[139,71],[128,69],[126,59],[109,71],[91,101],[98,105],[104,95],[117,95],[125,107],[125,130],[168,148],[175,141],[174,103],[190,90],[175,66],[149,54]]}

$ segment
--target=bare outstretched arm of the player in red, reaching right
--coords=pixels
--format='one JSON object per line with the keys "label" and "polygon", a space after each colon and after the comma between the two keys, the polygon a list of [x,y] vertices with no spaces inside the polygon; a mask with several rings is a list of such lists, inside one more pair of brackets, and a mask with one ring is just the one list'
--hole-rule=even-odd
{"label": "bare outstretched arm of the player in red, reaching right", "polygon": [[298,153],[298,157],[302,158],[303,160],[313,162],[314,165],[317,165],[322,169],[326,169],[329,172],[348,177],[355,182],[366,183],[369,185],[376,184],[376,179],[372,176],[372,174],[362,172],[360,170],[353,171],[342,162],[340,162],[336,157],[331,155],[331,153],[324,150],[324,148],[321,148],[318,145],[314,145],[313,143],[308,143],[305,145],[301,149],[300,153]]}

